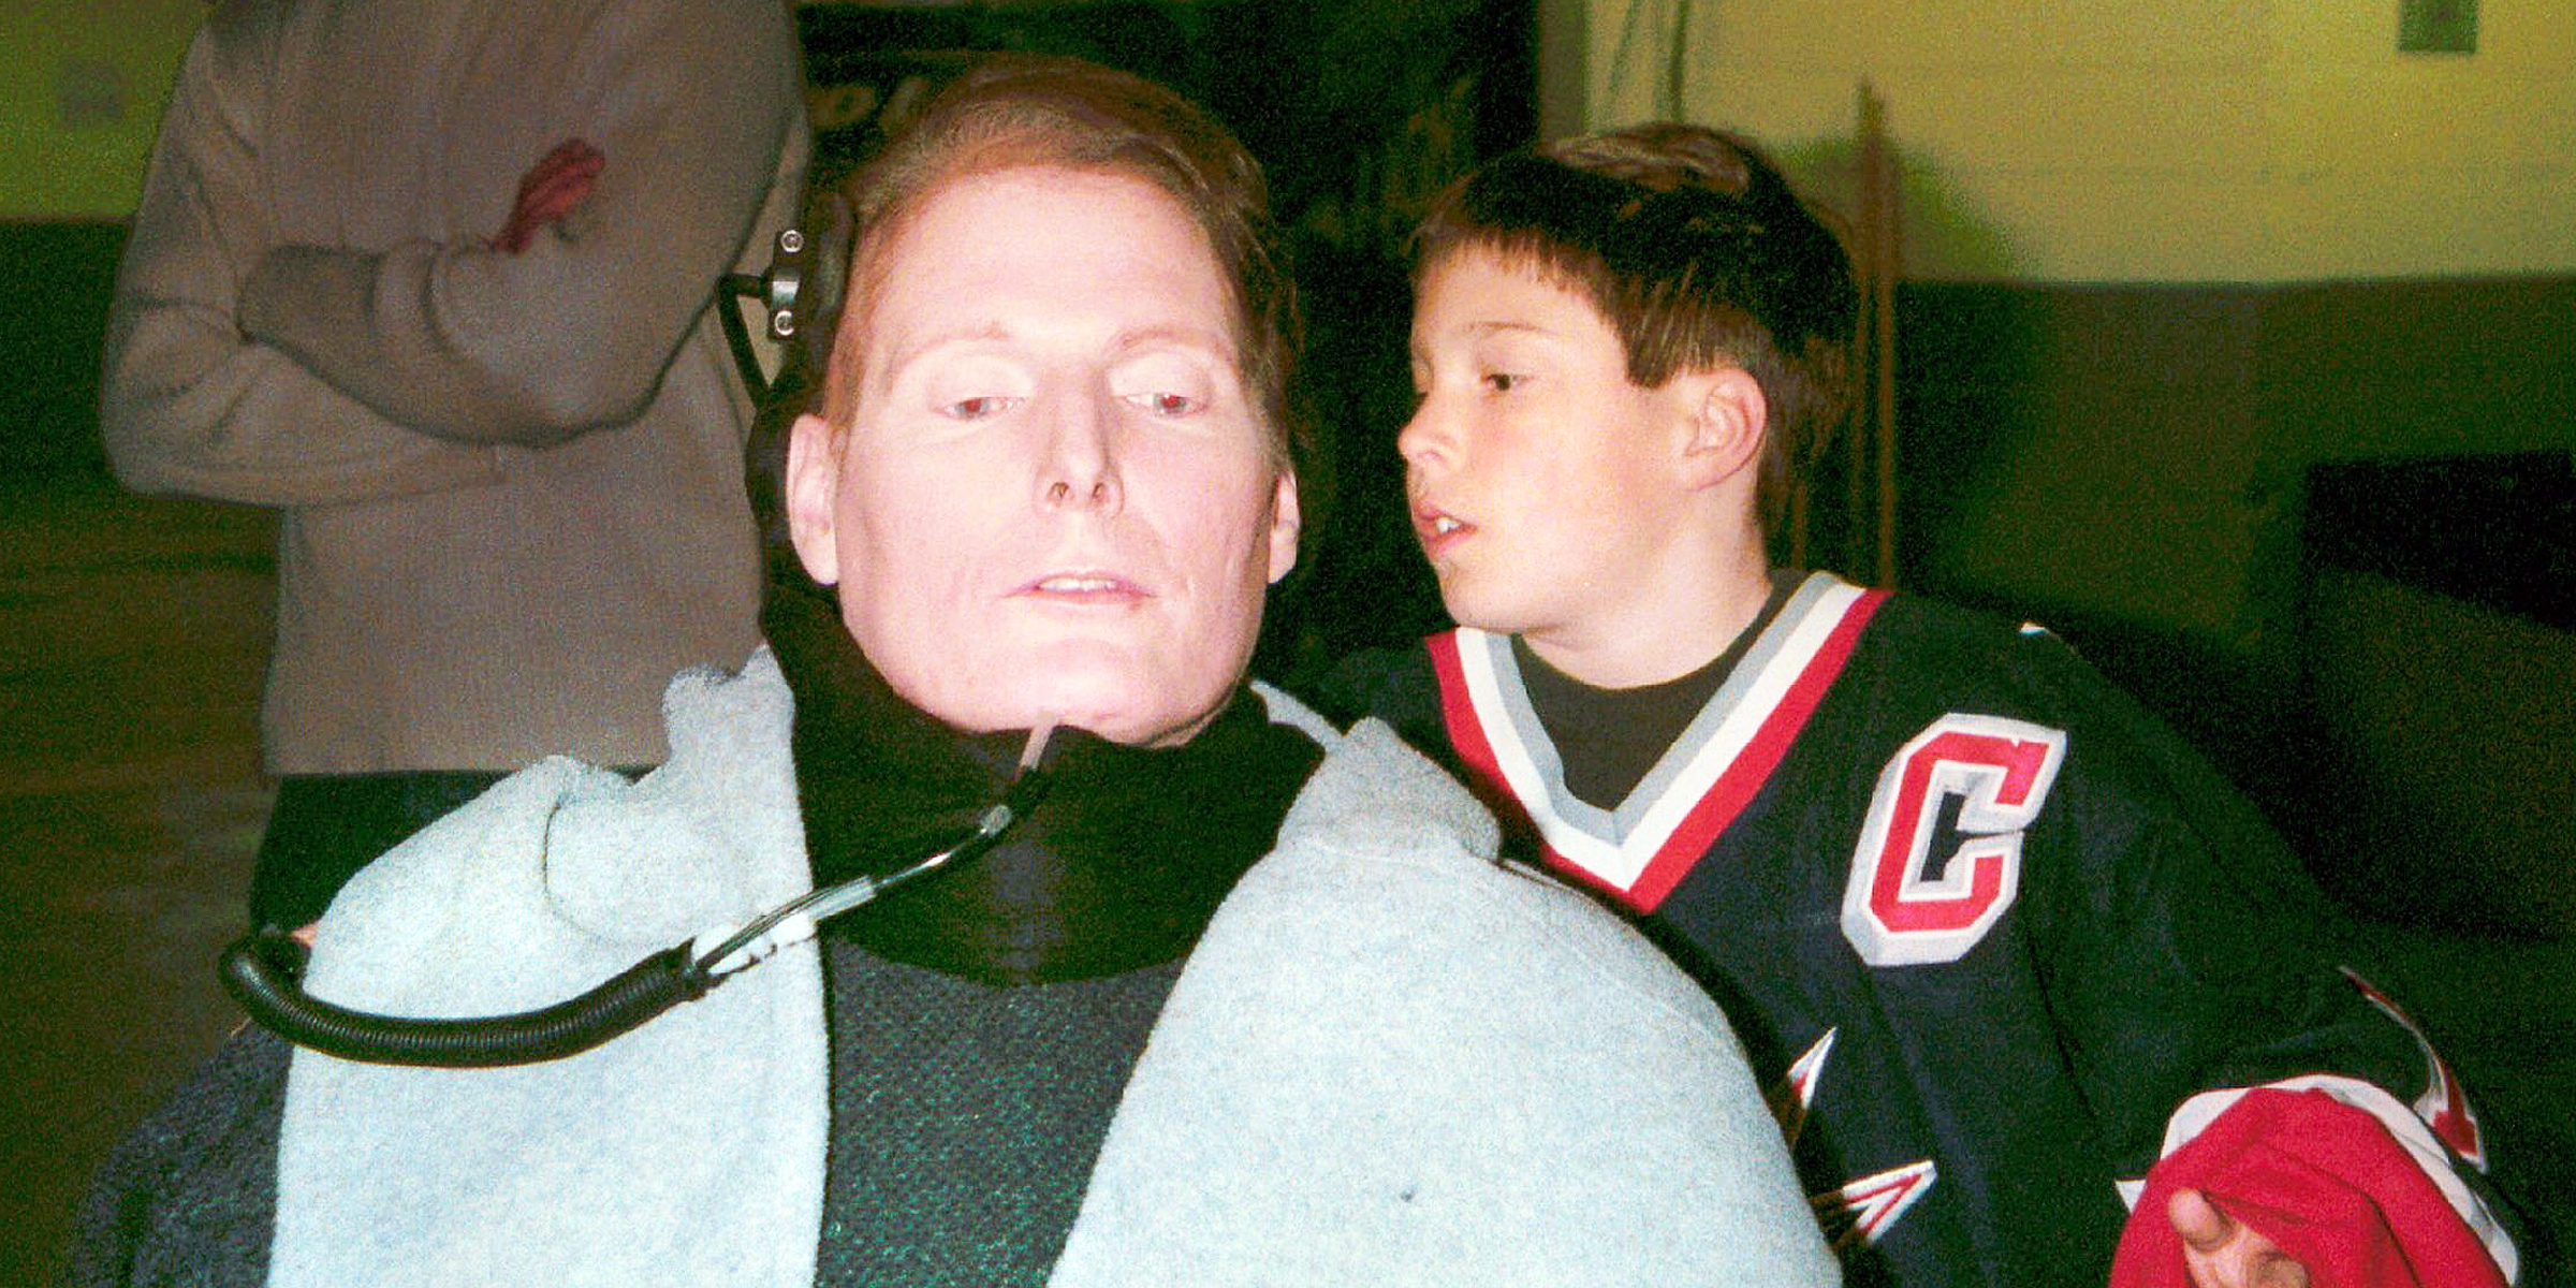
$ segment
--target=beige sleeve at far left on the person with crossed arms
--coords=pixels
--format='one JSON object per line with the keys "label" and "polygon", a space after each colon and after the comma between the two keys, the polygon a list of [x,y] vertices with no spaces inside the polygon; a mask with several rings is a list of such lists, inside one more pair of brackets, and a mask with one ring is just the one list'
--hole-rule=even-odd
{"label": "beige sleeve at far left on the person with crossed arms", "polygon": [[327,505],[474,487],[489,448],[412,433],[322,384],[234,322],[242,273],[268,242],[252,113],[258,33],[227,5],[188,46],[108,312],[100,433],[139,492]]}

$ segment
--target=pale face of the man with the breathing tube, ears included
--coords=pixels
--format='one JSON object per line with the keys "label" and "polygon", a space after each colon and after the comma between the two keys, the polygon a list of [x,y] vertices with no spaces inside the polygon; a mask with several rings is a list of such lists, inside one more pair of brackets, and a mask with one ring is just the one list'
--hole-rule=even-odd
{"label": "pale face of the man with the breathing tube, ears included", "polygon": [[935,188],[891,237],[848,438],[796,425],[806,572],[953,726],[1185,742],[1298,526],[1206,234],[1144,180],[1020,167]]}

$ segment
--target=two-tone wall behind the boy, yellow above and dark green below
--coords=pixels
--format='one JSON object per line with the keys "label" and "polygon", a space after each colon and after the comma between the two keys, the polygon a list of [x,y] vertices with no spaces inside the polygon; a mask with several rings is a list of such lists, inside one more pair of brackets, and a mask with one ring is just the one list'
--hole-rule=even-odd
{"label": "two-tone wall behind the boy, yellow above and dark green below", "polygon": [[2576,5],[1564,0],[1592,124],[1904,165],[1906,577],[2285,667],[2318,461],[2576,440]]}

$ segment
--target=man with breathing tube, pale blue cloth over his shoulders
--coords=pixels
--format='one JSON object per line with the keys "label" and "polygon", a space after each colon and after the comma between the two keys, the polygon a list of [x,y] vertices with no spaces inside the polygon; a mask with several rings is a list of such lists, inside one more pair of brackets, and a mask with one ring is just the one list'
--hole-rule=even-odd
{"label": "man with breathing tube, pale blue cloth over his shoulders", "polygon": [[641,781],[549,760],[374,863],[304,981],[518,1012],[1025,819],[549,1064],[250,1033],[72,1283],[1834,1283],[1716,1005],[1244,680],[1314,459],[1252,157],[997,59],[848,191],[850,304],[755,435],[768,647],[672,683]]}

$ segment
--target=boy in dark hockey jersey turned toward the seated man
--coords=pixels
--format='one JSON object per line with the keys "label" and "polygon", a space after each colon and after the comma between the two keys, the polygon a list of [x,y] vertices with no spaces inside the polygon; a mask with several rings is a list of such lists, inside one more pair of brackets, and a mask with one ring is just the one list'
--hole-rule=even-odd
{"label": "boy in dark hockey jersey turned toward the seated man", "polygon": [[1414,283],[1463,626],[1370,706],[1726,1007],[1855,1283],[2512,1283],[2450,1072],[2223,781],[2038,629],[1767,569],[1857,312],[1770,162],[1504,157]]}

